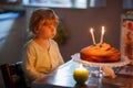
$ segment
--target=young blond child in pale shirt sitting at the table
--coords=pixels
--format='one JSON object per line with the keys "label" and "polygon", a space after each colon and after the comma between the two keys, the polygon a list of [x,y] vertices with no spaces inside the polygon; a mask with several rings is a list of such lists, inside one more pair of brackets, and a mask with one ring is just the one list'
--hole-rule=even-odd
{"label": "young blond child in pale shirt sitting at the table", "polygon": [[30,18],[29,29],[35,36],[25,44],[23,70],[31,81],[64,63],[57,42],[52,40],[58,23],[59,18],[51,9],[38,9]]}

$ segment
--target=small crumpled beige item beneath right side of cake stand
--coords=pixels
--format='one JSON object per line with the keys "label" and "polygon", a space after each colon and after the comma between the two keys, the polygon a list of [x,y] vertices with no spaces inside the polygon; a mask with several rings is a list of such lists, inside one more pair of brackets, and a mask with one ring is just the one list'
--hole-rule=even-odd
{"label": "small crumpled beige item beneath right side of cake stand", "polygon": [[103,72],[104,72],[104,76],[105,77],[111,77],[111,78],[115,78],[116,77],[113,68],[111,68],[111,67],[103,67]]}

